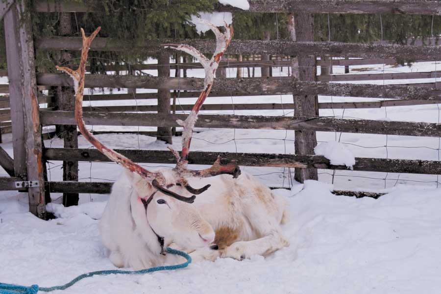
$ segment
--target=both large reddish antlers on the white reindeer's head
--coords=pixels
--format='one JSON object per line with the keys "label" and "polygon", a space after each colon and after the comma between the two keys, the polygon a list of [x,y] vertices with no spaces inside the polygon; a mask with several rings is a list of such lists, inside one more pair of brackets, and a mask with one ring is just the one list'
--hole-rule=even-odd
{"label": "both large reddish antlers on the white reindeer's head", "polygon": [[[226,48],[228,47],[231,41],[231,37],[233,33],[232,31],[233,28],[228,27],[227,25],[225,25],[225,33],[221,33],[216,26],[211,24],[209,25],[212,27],[212,30],[215,32],[216,38],[218,40],[215,54],[210,60],[208,60],[202,53],[200,53],[198,50],[196,50],[193,47],[185,46],[185,45],[168,45],[169,47],[173,47],[175,49],[185,51],[195,56],[197,60],[199,60],[204,66],[206,73],[205,81],[204,81],[204,90],[197,99],[196,104],[193,107],[189,117],[185,120],[185,122],[180,122],[180,124],[184,126],[183,140],[182,140],[182,155],[179,156],[178,152],[170,148],[178,161],[176,167],[173,169],[176,177],[175,183],[176,184],[179,183],[183,185],[185,188],[187,188],[187,190],[190,193],[193,194],[200,194],[204,192],[210,187],[210,185],[207,185],[201,189],[194,189],[188,184],[187,180],[184,178],[185,175],[208,177],[218,174],[232,174],[234,177],[237,177],[240,174],[240,169],[235,161],[231,161],[227,165],[221,165],[220,157],[218,157],[216,162],[209,169],[202,171],[193,171],[187,169],[187,164],[188,164],[187,158],[188,158],[190,143],[193,134],[193,127],[195,126],[197,120],[197,113],[199,112],[200,107],[202,106],[202,103],[204,102],[205,98],[207,98],[208,94],[210,93],[213,84],[214,74],[216,73],[216,69],[218,68],[219,62],[221,61],[221,56],[223,55],[223,53],[225,52]],[[168,190],[167,188],[165,188],[165,186],[167,185],[166,179],[161,172],[149,172],[146,169],[142,168],[141,166],[135,164],[127,157],[116,152],[115,150],[105,147],[85,127],[85,123],[83,120],[82,103],[83,103],[83,94],[84,94],[84,79],[86,73],[87,54],[89,52],[90,44],[97,36],[100,29],[101,27],[98,27],[89,37],[86,37],[84,30],[81,28],[81,34],[83,37],[83,47],[81,50],[80,64],[77,70],[74,71],[66,67],[59,67],[59,66],[56,67],[58,70],[68,73],[73,79],[73,84],[75,89],[75,119],[81,134],[84,136],[84,138],[86,138],[86,140],[88,140],[93,146],[95,146],[99,151],[101,151],[101,153],[107,156],[110,160],[118,164],[121,164],[123,167],[125,167],[131,172],[136,172],[142,178],[147,180],[147,182],[149,182],[150,185],[154,187],[156,190],[161,191],[162,193],[168,196],[172,196],[180,201],[193,203],[196,198],[195,195],[191,197],[184,197]]]}

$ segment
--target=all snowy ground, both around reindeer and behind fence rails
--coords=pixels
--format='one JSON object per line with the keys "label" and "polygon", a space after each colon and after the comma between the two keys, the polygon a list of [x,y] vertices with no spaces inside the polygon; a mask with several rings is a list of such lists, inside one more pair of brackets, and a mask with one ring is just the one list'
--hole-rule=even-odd
{"label": "all snowy ground, both around reindeer and behind fence rails", "polygon": [[[351,67],[351,68],[362,68]],[[437,62],[412,67],[373,66],[361,73],[436,71]],[[156,71],[146,71],[156,74]],[[334,73],[343,68],[335,67]],[[201,70],[189,71],[201,76]],[[246,76],[246,70],[243,71]],[[273,69],[275,76],[285,76]],[[355,72],[354,72],[355,73]],[[235,70],[227,70],[235,76]],[[257,69],[257,75],[258,69]],[[174,73],[172,72],[172,75]],[[440,74],[441,75],[441,74]],[[435,79],[425,79],[434,82]],[[437,80],[440,82],[440,79]],[[367,81],[368,82],[368,81]],[[374,81],[376,84],[420,80]],[[141,91],[140,91],[141,92]],[[145,90],[144,92],[147,92]],[[124,93],[113,91],[113,93]],[[320,102],[371,101],[372,98],[319,97]],[[87,100],[87,96],[85,97]],[[178,99],[178,105],[192,98]],[[208,98],[207,103],[292,103],[289,95]],[[152,100],[94,101],[93,106],[148,105]],[[85,105],[89,105],[85,102]],[[178,106],[179,109],[179,106]],[[204,113],[230,114],[232,111]],[[247,115],[287,115],[291,109],[235,111]],[[437,105],[382,109],[324,109],[321,116],[373,120],[440,122]],[[149,127],[89,126],[95,130],[154,130]],[[427,137],[318,132],[319,142],[337,141],[356,157],[440,159],[440,139]],[[112,148],[160,149],[166,145],[138,134],[98,135]],[[12,155],[11,136],[1,144]],[[60,139],[46,147],[62,147]],[[180,137],[173,138],[179,149]],[[91,147],[83,137],[79,147]],[[198,129],[192,150],[294,153],[294,131]],[[153,168],[154,164],[143,164]],[[49,180],[62,180],[61,162],[50,162]],[[113,181],[121,168],[113,163],[80,163],[80,181]],[[142,276],[110,275],[86,279],[65,293],[439,293],[441,258],[441,183],[437,175],[336,171],[334,188],[390,192],[378,200],[332,195],[333,171],[319,170],[319,182],[302,187],[291,180],[294,170],[242,167],[290,197],[292,220],[283,230],[291,245],[266,259],[237,262],[221,259],[193,264],[188,269]],[[6,173],[0,169],[0,176]],[[441,187],[441,186],[440,186]],[[302,190],[302,188],[304,188]],[[301,192],[299,192],[301,191]],[[60,203],[60,194],[52,194]],[[26,195],[0,192],[0,282],[53,286],[83,272],[113,269],[98,235],[98,219],[108,196],[81,195],[79,207],[57,208],[60,218],[40,221],[27,213]]]}

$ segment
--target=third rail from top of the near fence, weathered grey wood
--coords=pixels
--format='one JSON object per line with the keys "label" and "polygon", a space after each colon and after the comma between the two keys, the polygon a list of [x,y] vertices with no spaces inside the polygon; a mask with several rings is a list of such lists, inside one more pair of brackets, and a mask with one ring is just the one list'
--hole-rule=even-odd
{"label": "third rail from top of the near fence, weathered grey wood", "polygon": [[[37,82],[46,86],[73,86],[72,79],[62,73],[39,73]],[[194,77],[161,79],[155,76],[86,74],[85,86],[200,91],[203,87],[203,79]],[[441,99],[441,89],[429,87],[292,81],[291,77],[218,78],[213,85],[213,91],[232,93],[234,96],[265,93],[266,95],[332,95],[406,100]],[[184,93],[182,95],[184,96]]]}

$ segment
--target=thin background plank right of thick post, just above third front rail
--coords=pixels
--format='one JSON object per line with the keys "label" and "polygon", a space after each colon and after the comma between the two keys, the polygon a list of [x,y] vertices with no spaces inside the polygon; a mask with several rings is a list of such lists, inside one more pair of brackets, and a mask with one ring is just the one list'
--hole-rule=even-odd
{"label": "thin background plank right of thick post, just above third front rail", "polygon": [[358,73],[358,74],[331,74],[319,75],[320,82],[342,82],[342,81],[366,81],[366,80],[395,80],[412,78],[435,78],[441,77],[441,72],[419,72],[419,73]]}

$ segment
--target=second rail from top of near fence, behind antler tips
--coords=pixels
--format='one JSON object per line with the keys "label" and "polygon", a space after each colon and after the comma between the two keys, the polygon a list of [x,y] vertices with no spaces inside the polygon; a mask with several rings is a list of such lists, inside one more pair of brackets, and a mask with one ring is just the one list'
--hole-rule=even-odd
{"label": "second rail from top of near fence, behind antler tips", "polygon": [[[127,40],[95,38],[91,50],[98,51],[141,51],[157,53],[164,50],[164,44],[187,44],[201,52],[213,52],[215,40],[208,39],[152,39],[142,45]],[[51,37],[36,41],[43,50],[80,50],[81,38]],[[400,58],[404,60],[440,60],[441,46],[411,46],[383,44],[355,44],[340,42],[294,42],[289,40],[232,40],[225,54],[273,54],[285,56],[334,56],[360,58]]]}

